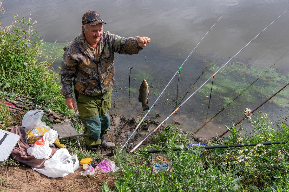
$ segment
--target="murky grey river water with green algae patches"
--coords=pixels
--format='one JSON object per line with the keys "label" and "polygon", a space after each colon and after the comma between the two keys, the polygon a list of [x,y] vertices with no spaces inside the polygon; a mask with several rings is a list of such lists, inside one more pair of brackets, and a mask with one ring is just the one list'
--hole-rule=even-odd
{"label": "murky grey river water with green algae patches", "polygon": [[[96,10],[108,23],[104,31],[122,37],[147,36],[139,54],[115,56],[116,83],[111,112],[144,116],[138,102],[143,79],[150,88],[149,107],[158,98],[205,33],[222,16],[198,45],[147,118],[163,121],[199,86],[251,39],[289,8],[288,0],[127,0],[56,1],[2,0],[2,26],[10,25],[14,14],[36,20],[34,28],[46,42],[68,43],[81,31],[82,15]],[[184,103],[166,123],[200,136],[216,136],[243,118],[243,110],[257,108],[289,80],[289,11],[284,13],[231,62]],[[62,53],[60,52],[60,55]],[[59,62],[54,63],[60,65]],[[131,69],[130,89],[128,88]],[[212,88],[212,94],[211,94]],[[288,88],[260,107],[272,122],[288,117]],[[208,97],[210,96],[211,97]],[[211,99],[210,99],[211,98]],[[210,103],[210,104],[209,104]],[[257,115],[253,115],[253,119]],[[249,123],[244,128],[251,129]]]}

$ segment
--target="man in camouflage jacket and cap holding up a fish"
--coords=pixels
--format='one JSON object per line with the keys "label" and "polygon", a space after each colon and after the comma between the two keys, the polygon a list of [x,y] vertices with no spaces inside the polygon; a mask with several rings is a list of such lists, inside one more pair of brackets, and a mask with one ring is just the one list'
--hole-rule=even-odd
{"label": "man in camouflage jacket and cap holding up a fish", "polygon": [[69,109],[75,109],[84,123],[84,140],[87,151],[98,151],[100,147],[114,147],[105,141],[110,128],[108,110],[111,107],[114,83],[114,53],[137,54],[150,42],[148,37],[119,37],[103,32],[103,20],[95,11],[82,17],[82,32],[64,47],[60,71],[62,89]]}

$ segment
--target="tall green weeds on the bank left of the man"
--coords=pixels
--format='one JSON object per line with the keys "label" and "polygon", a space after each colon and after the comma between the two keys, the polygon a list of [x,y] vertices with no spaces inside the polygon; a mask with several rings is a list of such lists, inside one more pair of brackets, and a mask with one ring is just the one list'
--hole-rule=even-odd
{"label": "tall green weeds on the bank left of the man", "polygon": [[35,24],[36,21],[19,19],[18,15],[14,15],[10,26],[3,27],[0,23],[0,92],[52,101],[41,105],[69,115],[64,97],[59,93],[58,70],[50,67],[52,58],[47,57],[44,62],[37,60],[43,40],[34,30]]}

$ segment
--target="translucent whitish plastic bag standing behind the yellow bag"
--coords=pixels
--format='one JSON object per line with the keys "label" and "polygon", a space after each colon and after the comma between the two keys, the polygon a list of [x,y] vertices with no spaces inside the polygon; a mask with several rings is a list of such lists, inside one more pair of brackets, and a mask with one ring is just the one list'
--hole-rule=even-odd
{"label": "translucent whitish plastic bag standing behind the yellow bag", "polygon": [[28,111],[22,119],[21,126],[25,127],[27,131],[33,129],[41,121],[43,113],[42,110],[38,109]]}

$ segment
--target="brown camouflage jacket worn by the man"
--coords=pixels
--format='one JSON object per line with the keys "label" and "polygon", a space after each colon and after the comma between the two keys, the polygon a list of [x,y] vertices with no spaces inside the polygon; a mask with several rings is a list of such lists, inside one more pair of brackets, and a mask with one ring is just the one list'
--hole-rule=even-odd
{"label": "brown camouflage jacket worn by the man", "polygon": [[106,94],[114,83],[114,52],[137,54],[142,50],[136,40],[139,37],[124,38],[103,32],[99,40],[99,52],[95,58],[86,46],[83,31],[66,47],[61,62],[60,93],[72,97],[72,83],[82,94],[96,96]]}

